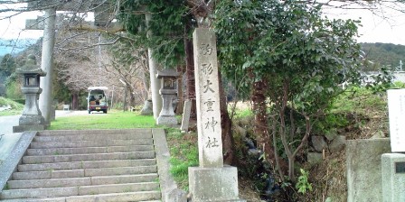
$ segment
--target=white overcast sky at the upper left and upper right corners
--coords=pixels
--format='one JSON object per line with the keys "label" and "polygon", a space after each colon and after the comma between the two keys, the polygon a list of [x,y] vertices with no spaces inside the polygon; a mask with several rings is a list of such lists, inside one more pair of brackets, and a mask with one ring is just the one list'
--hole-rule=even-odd
{"label": "white overcast sky at the upper left and upper right corners", "polygon": [[[387,18],[382,19],[368,10],[327,9],[325,12],[330,18],[362,18],[363,27],[359,28],[359,34],[361,36],[358,39],[360,42],[387,42],[405,45],[405,14],[382,9],[382,13],[379,12],[378,15],[383,15]],[[9,15],[10,13],[0,13],[0,19]],[[25,19],[34,19],[38,15],[42,15],[42,13],[23,13],[12,18],[0,20],[0,38],[36,39],[41,37],[42,31],[24,31]]]}

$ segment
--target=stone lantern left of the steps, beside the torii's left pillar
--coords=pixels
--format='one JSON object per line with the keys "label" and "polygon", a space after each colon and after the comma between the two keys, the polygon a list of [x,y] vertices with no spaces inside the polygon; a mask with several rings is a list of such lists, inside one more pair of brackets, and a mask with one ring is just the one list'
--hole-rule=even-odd
{"label": "stone lantern left of the steps, beside the torii's left pillar", "polygon": [[24,78],[21,90],[25,95],[25,106],[19,125],[13,127],[13,132],[42,131],[45,129],[45,120],[38,106],[38,98],[42,92],[40,77],[44,77],[46,72],[36,65],[35,56],[29,55],[24,66],[17,69],[16,73],[22,74]]}

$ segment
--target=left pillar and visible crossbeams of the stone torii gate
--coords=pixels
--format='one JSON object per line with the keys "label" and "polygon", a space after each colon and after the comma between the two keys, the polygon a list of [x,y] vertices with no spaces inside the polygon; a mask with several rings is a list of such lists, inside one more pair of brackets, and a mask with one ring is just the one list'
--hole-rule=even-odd
{"label": "left pillar and visible crossbeams of the stone torii gate", "polygon": [[[27,1],[23,1],[27,2]],[[112,9],[109,9],[109,4],[105,0],[94,1],[65,1],[58,0],[39,0],[28,1],[28,10],[44,10],[44,17],[38,19],[30,19],[25,22],[27,30],[43,30],[42,39],[42,62],[41,69],[48,72],[47,76],[41,78],[42,94],[39,98],[39,107],[45,119],[45,124],[51,122],[51,107],[52,107],[52,63],[53,63],[53,47],[55,42],[56,28],[56,11],[69,12],[94,12],[94,23],[85,22],[82,25],[90,29],[100,28],[108,30],[118,30],[120,26],[117,23],[111,22]]]}

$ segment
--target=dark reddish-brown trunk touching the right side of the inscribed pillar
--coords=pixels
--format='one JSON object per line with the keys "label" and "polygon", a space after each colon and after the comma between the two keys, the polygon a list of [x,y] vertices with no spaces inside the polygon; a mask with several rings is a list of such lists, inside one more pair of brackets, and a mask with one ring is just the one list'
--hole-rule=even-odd
{"label": "dark reddish-brown trunk touching the right side of the inscribed pillar", "polygon": [[222,152],[223,162],[228,165],[233,164],[235,157],[234,140],[231,133],[232,122],[228,113],[226,94],[222,87],[221,71],[218,69],[218,80],[220,86],[220,109],[221,109],[221,130],[222,130]]}

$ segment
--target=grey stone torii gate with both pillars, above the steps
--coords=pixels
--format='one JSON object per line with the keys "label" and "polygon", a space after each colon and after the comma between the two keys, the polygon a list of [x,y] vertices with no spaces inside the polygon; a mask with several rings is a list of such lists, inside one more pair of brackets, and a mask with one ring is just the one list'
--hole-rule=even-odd
{"label": "grey stone torii gate with both pillars, above the steps", "polygon": [[[44,17],[38,19],[27,20],[25,27],[28,30],[44,30],[43,31],[43,41],[42,41],[42,69],[52,72],[52,52],[54,46],[54,30],[55,30],[55,20],[56,11],[73,11],[73,12],[94,12],[94,22],[81,22],[80,28],[87,30],[97,30],[97,31],[108,31],[117,32],[122,31],[122,25],[119,23],[111,23],[114,18],[113,9],[111,5],[108,4],[107,0],[71,0],[67,3],[60,3],[58,0],[33,0],[28,3],[29,10],[43,10],[46,14]],[[146,23],[148,23],[152,18],[152,14],[146,13]],[[148,32],[147,36],[151,36],[151,32]],[[148,63],[150,71],[151,80],[151,91],[152,91],[152,101],[153,101],[153,111],[155,119],[159,115],[163,101],[159,95],[160,80],[155,78],[157,72],[157,62],[152,57],[153,50],[148,49]],[[52,74],[48,74],[47,78],[44,78],[42,82],[42,96],[40,96],[40,109],[42,115],[45,118],[46,123],[50,123],[50,109],[51,109],[51,91],[52,91]]]}

